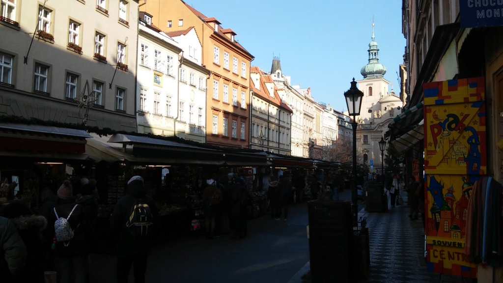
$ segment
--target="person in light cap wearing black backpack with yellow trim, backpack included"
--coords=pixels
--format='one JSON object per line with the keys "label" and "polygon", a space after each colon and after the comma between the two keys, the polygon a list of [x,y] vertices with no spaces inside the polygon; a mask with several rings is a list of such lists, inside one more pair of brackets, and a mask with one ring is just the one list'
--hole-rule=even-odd
{"label": "person in light cap wearing black backpack with yellow trim, backpack included", "polygon": [[128,281],[134,264],[134,281],[145,282],[147,257],[158,226],[159,214],[154,200],[146,194],[141,176],[132,177],[126,193],[115,205],[110,229],[117,248],[117,282]]}

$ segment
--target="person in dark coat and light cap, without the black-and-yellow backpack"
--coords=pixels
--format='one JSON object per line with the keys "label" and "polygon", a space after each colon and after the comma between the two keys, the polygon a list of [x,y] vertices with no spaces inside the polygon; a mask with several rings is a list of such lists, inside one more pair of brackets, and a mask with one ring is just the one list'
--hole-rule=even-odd
{"label": "person in dark coat and light cap, without the black-and-yellow backpack", "polygon": [[[153,233],[148,233],[145,238],[131,235],[129,228],[126,226],[137,199],[143,199],[150,207],[152,213]],[[146,194],[143,178],[140,176],[132,177],[128,181],[125,195],[117,201],[110,217],[110,229],[112,235],[115,237],[117,248],[118,283],[128,281],[129,271],[133,264],[135,282],[145,282],[147,257],[150,255],[153,234],[157,230],[158,219],[158,210],[155,207],[154,200]]]}

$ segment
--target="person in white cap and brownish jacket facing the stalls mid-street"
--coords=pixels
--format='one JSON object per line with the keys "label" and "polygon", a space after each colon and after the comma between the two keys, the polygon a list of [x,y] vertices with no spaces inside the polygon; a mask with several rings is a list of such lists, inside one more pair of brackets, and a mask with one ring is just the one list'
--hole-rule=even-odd
{"label": "person in white cap and brownish jacket facing the stalls mid-street", "polygon": [[204,203],[204,219],[206,226],[206,239],[213,239],[215,236],[215,219],[218,206],[222,202],[222,192],[217,187],[217,182],[214,179],[206,180],[206,188],[203,192]]}

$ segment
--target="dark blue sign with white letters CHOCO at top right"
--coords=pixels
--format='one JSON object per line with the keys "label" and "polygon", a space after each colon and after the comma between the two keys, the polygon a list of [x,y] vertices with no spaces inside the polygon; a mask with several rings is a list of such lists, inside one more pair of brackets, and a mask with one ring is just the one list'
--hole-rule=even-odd
{"label": "dark blue sign with white letters CHOCO at top right", "polygon": [[503,0],[459,0],[462,28],[503,26]]}

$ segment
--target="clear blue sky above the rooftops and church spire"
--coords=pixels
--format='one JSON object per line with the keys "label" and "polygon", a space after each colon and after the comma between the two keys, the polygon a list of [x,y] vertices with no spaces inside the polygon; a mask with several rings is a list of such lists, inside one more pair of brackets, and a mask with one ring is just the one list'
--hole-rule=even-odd
{"label": "clear blue sky above the rooftops and church spire", "polygon": [[[368,62],[368,44],[374,19],[379,62],[398,94],[396,73],[403,63],[405,38],[401,26],[401,1],[301,1],[301,0],[186,0],[222,28],[230,28],[236,40],[255,56],[252,66],[271,72],[274,56],[280,56],[283,74],[292,85],[311,88],[317,102],[347,110],[344,92],[353,80],[361,80]],[[391,86],[389,86],[391,89]]]}

